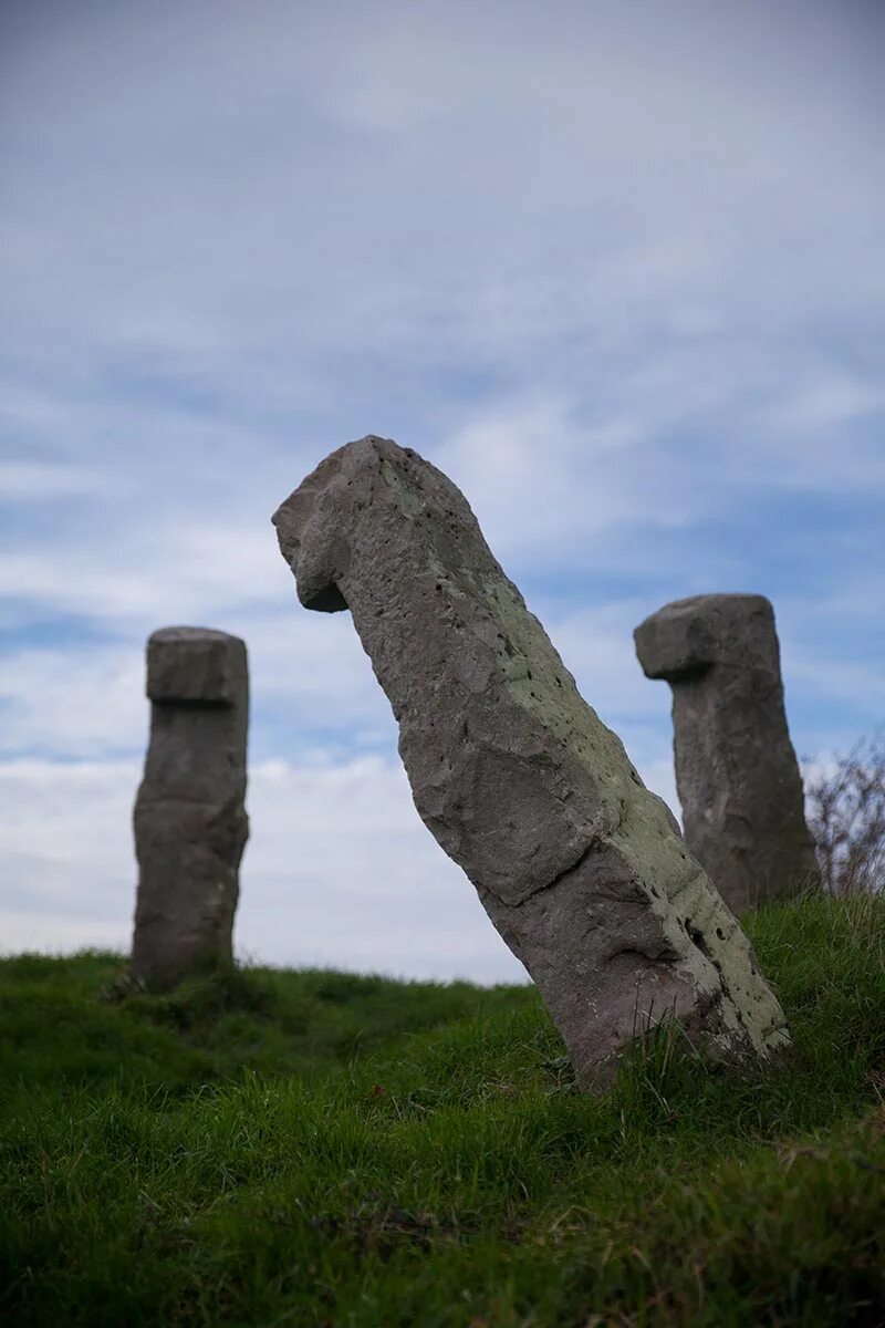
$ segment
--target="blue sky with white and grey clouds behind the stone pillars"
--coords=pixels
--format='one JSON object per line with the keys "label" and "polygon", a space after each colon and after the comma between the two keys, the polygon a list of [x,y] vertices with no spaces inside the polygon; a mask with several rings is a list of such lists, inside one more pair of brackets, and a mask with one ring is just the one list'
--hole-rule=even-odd
{"label": "blue sky with white and grey clouds behind the stone pillars", "polygon": [[877,0],[0,5],[0,947],[125,950],[143,643],[243,635],[238,943],[521,969],[269,517],[394,437],[674,803],[632,628],[775,603],[803,756],[885,718]]}

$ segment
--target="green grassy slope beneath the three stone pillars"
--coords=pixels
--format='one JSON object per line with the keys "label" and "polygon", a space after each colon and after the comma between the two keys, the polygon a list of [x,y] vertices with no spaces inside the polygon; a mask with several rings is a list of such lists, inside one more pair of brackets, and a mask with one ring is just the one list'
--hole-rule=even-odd
{"label": "green grassy slope beneath the three stone pillars", "polygon": [[751,922],[795,1052],[575,1092],[531,988],[0,963],[0,1323],[885,1324],[885,900]]}

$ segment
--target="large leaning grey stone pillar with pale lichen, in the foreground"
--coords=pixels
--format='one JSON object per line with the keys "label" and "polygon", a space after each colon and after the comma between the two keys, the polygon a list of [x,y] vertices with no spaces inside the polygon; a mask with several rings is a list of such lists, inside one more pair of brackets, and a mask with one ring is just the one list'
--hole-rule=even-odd
{"label": "large leaning grey stone pillar with pale lichen, in the foreground", "polygon": [[415,806],[537,983],[580,1080],[605,1084],[666,1012],[719,1058],[785,1044],[738,923],[460,491],[369,437],[332,453],[273,522],[301,603],[350,610]]}

